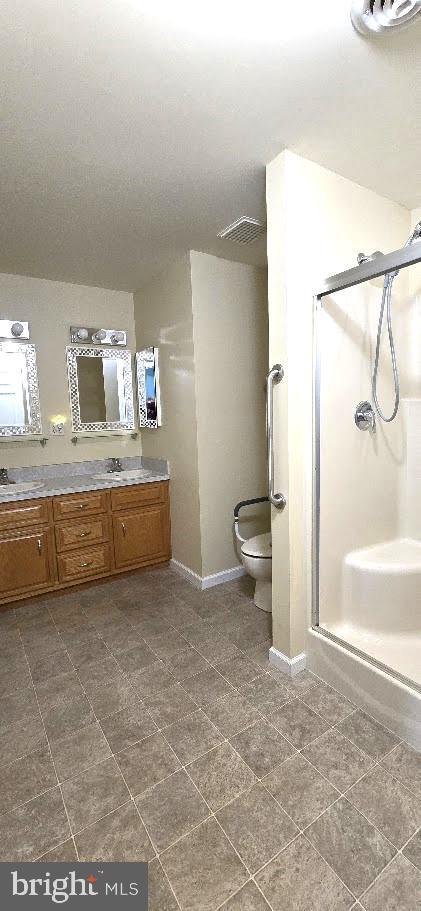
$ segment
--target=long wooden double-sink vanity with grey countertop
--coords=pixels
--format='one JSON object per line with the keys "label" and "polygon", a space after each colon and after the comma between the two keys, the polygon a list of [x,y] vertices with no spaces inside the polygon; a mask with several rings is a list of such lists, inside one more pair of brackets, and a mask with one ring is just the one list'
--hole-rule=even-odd
{"label": "long wooden double-sink vanity with grey countertop", "polygon": [[[147,474],[49,479],[22,495],[12,485],[0,498],[0,604],[169,560],[168,476]],[[60,493],[69,480],[74,492]]]}

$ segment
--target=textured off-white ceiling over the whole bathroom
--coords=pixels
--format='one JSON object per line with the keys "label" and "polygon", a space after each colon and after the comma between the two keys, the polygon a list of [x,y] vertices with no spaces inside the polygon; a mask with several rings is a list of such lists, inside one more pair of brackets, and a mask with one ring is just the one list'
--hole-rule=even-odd
{"label": "textured off-white ceiling over the whole bathroom", "polygon": [[133,290],[189,248],[263,262],[216,234],[264,218],[285,147],[421,205],[420,42],[364,40],[348,0],[3,0],[0,271]]}

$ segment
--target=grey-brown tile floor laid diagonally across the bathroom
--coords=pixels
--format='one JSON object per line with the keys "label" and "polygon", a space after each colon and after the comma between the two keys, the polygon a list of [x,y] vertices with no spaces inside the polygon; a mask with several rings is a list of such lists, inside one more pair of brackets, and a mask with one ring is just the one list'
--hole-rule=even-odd
{"label": "grey-brown tile floor laid diagonally across the bathroom", "polygon": [[269,666],[246,580],[0,614],[0,860],[146,860],[150,911],[419,911],[421,755]]}

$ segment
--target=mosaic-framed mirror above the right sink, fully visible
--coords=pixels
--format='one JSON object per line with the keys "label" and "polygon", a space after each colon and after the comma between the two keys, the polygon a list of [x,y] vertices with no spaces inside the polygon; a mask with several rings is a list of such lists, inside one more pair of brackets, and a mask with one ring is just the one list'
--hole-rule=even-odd
{"label": "mosaic-framed mirror above the right sink, fully visible", "polygon": [[76,433],[134,430],[130,351],[70,346],[67,374]]}

